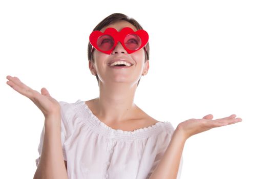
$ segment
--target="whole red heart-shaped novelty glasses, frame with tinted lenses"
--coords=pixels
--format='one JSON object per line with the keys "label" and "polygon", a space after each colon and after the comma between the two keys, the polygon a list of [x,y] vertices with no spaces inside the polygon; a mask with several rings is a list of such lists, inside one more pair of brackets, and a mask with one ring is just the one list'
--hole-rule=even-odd
{"label": "whole red heart-shaped novelty glasses, frame with tinted lenses", "polygon": [[149,41],[149,34],[142,29],[134,32],[129,27],[123,28],[119,32],[114,28],[107,28],[104,33],[93,31],[89,39],[92,51],[95,48],[100,52],[111,54],[119,41],[122,47],[131,54],[146,46]]}

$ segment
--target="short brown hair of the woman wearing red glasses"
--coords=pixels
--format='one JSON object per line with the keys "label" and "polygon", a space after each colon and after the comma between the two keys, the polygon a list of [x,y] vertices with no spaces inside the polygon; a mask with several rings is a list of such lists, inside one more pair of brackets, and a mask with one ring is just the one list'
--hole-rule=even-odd
{"label": "short brown hair of the woman wearing red glasses", "polygon": [[[143,29],[142,26],[135,19],[130,18],[125,14],[114,13],[114,14],[111,14],[111,15],[107,16],[102,21],[100,21],[100,23],[93,29],[93,31],[96,31],[96,30],[99,31],[102,28],[104,28],[104,27],[106,27],[106,26],[108,26],[110,24],[116,23],[119,20],[128,21],[130,24],[132,24],[134,27],[136,27],[137,30]],[[150,44],[149,44],[149,42],[147,43],[146,48],[147,48],[147,51],[145,51],[145,57],[146,57],[145,62],[147,60],[149,60],[149,55],[150,55]],[[94,63],[94,59],[93,59],[93,55],[92,55],[93,53],[91,52],[91,50],[92,50],[92,45],[91,45],[91,43],[89,41],[89,44],[88,44],[88,60]],[[97,74],[96,74],[96,79],[97,79],[97,82],[98,82],[98,85],[99,85],[99,78],[98,78]],[[139,84],[139,81],[140,81],[140,79],[138,80],[137,86]]]}

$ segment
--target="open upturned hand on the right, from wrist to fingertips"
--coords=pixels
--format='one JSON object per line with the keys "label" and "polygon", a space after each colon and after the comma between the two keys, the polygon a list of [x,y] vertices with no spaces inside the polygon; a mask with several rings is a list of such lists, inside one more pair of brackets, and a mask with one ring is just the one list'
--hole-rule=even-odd
{"label": "open upturned hand on the right, from wrist to fingertips", "polygon": [[202,119],[189,119],[187,121],[178,124],[176,131],[183,135],[184,139],[187,140],[197,133],[212,129],[214,127],[221,127],[225,125],[235,124],[241,122],[241,118],[235,118],[236,115],[231,115],[229,117],[221,119],[213,119],[213,115],[206,115]]}

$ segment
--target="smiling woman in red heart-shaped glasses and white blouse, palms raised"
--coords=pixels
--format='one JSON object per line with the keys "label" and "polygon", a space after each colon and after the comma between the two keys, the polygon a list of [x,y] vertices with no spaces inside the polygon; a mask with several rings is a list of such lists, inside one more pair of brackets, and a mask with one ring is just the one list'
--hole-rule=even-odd
{"label": "smiling woman in red heart-shaped glasses and white blouse, palms raised", "polygon": [[140,78],[149,70],[148,34],[120,13],[102,20],[90,35],[89,69],[99,97],[57,102],[7,76],[45,116],[34,178],[179,178],[185,141],[213,127],[240,122],[236,115],[189,119],[174,129],[134,104]]}

